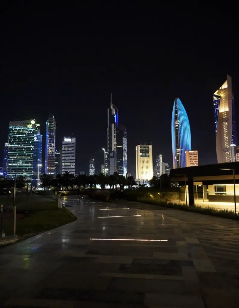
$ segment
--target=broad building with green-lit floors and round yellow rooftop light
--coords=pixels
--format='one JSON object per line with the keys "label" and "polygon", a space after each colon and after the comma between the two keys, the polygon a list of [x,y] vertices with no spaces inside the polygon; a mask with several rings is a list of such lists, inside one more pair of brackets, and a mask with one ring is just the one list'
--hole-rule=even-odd
{"label": "broad building with green-lit floors and round yellow rooftop light", "polygon": [[14,121],[9,123],[7,178],[24,176],[32,180],[32,160],[35,120]]}

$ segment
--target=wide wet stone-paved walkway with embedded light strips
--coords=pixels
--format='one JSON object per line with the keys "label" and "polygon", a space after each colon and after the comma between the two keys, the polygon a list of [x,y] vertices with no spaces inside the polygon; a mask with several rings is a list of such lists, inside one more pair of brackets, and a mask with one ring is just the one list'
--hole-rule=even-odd
{"label": "wide wet stone-paved walkway with embedded light strips", "polygon": [[66,203],[76,221],[0,249],[1,307],[238,307],[239,222]]}

